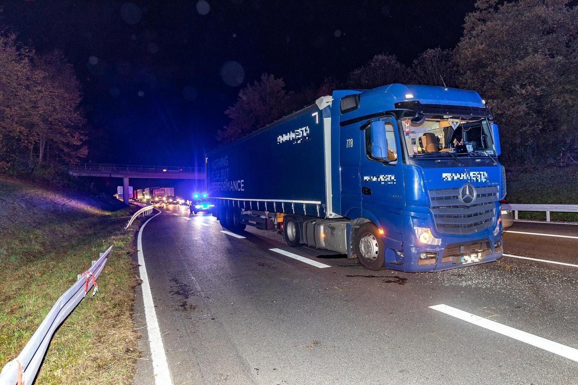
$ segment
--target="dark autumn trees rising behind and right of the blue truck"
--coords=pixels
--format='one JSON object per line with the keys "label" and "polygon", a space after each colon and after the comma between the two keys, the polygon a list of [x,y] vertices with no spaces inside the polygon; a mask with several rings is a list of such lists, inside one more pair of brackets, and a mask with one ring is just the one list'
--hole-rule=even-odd
{"label": "dark autumn trees rising behind and right of the blue truck", "polygon": [[218,139],[230,142],[338,88],[390,83],[476,90],[501,127],[509,165],[578,162],[578,8],[568,0],[479,0],[454,49],[428,49],[411,66],[380,53],[345,82],[290,92],[263,75],[239,92]]}

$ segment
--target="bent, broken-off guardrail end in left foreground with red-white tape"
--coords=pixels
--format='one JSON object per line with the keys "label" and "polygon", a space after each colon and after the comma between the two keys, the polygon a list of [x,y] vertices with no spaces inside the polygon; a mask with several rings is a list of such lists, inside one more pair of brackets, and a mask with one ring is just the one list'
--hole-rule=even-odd
{"label": "bent, broken-off guardrail end in left foreground with red-white tape", "polygon": [[[112,246],[100,258],[92,261],[89,271],[95,279],[98,278],[105,266]],[[87,273],[79,274],[76,282],[58,298],[38,329],[32,335],[24,349],[14,360],[8,362],[0,372],[0,385],[14,385],[21,375],[23,383],[31,385],[38,374],[38,369],[50,344],[50,340],[62,321],[68,317],[76,305],[86,296],[85,285]],[[92,280],[88,280],[88,290],[92,287]],[[20,364],[18,364],[20,363]],[[19,373],[20,372],[20,373]]]}

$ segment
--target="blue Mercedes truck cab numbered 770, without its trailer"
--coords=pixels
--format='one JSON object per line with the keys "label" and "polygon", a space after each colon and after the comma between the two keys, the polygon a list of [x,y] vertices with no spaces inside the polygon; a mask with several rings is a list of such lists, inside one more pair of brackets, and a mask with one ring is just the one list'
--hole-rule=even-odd
{"label": "blue Mercedes truck cab numbered 770, without its trailer", "polygon": [[352,221],[362,265],[439,271],[502,256],[505,172],[477,92],[335,91],[331,124],[332,206]]}

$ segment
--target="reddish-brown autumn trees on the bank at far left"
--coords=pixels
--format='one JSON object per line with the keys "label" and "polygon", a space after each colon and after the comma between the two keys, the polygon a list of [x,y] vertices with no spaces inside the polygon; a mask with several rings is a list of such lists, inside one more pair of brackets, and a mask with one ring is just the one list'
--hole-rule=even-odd
{"label": "reddish-brown autumn trees on the bank at far left", "polygon": [[64,55],[38,54],[0,31],[0,69],[0,169],[85,157],[80,83]]}

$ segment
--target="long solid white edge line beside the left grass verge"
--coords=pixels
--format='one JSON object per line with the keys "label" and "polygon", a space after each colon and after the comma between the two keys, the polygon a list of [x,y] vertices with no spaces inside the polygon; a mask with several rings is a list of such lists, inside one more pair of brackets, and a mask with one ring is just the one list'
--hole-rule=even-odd
{"label": "long solid white edge line beside the left grass verge", "polygon": [[147,331],[149,332],[150,355],[153,360],[153,375],[156,385],[172,384],[169,365],[166,363],[165,347],[162,345],[161,330],[158,327],[157,312],[154,310],[153,294],[150,291],[149,275],[144,265],[142,235],[144,226],[158,214],[150,217],[139,230],[136,247],[139,257],[139,275],[143,291],[144,316],[146,317]]}

